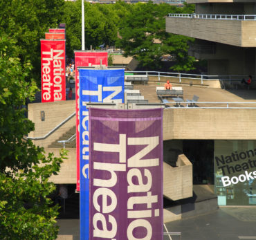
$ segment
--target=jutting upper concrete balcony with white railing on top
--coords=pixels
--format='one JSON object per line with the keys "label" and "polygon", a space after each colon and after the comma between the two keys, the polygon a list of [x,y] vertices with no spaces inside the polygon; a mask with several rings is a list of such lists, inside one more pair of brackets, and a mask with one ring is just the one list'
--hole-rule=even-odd
{"label": "jutting upper concrete balcony with white railing on top", "polygon": [[256,15],[170,14],[166,32],[221,44],[256,47]]}

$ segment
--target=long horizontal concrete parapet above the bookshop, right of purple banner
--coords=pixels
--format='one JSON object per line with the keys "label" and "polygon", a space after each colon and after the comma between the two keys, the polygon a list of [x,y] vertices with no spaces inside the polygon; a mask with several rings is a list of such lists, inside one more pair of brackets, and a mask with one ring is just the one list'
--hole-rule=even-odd
{"label": "long horizontal concrete parapet above the bookshop, right of purple banner", "polygon": [[255,109],[165,109],[163,140],[254,140]]}

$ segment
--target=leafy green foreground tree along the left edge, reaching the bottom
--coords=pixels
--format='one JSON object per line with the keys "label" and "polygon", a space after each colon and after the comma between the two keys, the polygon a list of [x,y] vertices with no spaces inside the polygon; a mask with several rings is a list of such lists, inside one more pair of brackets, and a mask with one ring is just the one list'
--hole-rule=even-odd
{"label": "leafy green foreground tree along the left edge, reaching the bottom", "polygon": [[56,158],[25,140],[33,131],[23,106],[37,86],[26,79],[30,63],[21,64],[16,40],[0,30],[0,239],[55,239],[57,205],[48,195],[48,182],[60,170],[65,152]]}

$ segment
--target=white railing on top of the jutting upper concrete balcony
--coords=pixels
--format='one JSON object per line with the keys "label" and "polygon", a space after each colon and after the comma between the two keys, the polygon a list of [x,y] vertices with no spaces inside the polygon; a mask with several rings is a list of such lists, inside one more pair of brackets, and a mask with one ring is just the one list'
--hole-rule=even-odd
{"label": "white railing on top of the jutting upper concrete balcony", "polygon": [[212,14],[181,14],[170,13],[168,17],[186,17],[196,19],[217,19],[217,20],[243,20],[243,21],[255,21],[256,15],[212,15]]}

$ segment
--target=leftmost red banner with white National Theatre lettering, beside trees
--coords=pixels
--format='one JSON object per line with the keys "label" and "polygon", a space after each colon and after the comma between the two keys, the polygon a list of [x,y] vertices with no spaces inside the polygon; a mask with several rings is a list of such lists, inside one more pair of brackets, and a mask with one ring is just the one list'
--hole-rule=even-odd
{"label": "leftmost red banner with white National Theatre lettering, beside trees", "polygon": [[42,102],[66,100],[65,40],[41,40]]}

